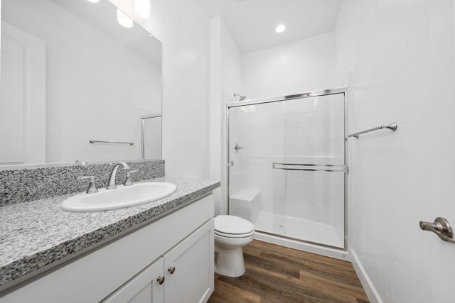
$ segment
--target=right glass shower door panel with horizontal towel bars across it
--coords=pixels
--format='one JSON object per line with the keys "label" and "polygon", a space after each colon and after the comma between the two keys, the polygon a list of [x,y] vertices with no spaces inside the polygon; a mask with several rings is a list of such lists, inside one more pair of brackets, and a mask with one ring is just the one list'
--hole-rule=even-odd
{"label": "right glass shower door panel with horizontal towel bars across it", "polygon": [[274,104],[273,233],[345,246],[344,95]]}

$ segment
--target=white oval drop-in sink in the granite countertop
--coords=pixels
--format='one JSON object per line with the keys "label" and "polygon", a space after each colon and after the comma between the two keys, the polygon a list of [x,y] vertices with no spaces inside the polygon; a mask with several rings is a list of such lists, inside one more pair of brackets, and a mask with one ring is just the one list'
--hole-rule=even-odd
{"label": "white oval drop-in sink in the granite countertop", "polygon": [[77,194],[62,202],[65,211],[104,211],[152,202],[167,197],[177,189],[166,182],[144,182],[116,189],[100,189],[96,194]]}

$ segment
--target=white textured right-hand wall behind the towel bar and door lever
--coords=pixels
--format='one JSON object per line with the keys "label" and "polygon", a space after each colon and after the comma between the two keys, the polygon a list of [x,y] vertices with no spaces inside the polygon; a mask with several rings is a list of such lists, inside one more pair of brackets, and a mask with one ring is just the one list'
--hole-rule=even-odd
{"label": "white textured right-hand wall behind the towel bar and door lever", "polygon": [[349,139],[350,250],[370,299],[453,302],[455,246],[419,221],[455,221],[454,1],[344,1],[336,49],[350,132],[398,123]]}

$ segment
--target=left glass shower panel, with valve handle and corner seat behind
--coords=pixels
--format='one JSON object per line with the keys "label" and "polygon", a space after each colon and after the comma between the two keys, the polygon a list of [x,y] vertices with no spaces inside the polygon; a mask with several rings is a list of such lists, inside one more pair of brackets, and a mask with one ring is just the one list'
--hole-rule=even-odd
{"label": "left glass shower panel, with valve handle and corner seat behind", "polygon": [[253,224],[273,212],[273,104],[229,109],[229,209]]}

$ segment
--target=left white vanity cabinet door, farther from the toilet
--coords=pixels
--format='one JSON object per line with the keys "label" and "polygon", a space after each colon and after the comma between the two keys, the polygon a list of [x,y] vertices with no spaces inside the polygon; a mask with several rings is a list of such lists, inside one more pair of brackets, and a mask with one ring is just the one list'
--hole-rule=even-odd
{"label": "left white vanity cabinet door, farther from the toilet", "polygon": [[163,280],[161,280],[161,285],[159,284],[159,277],[164,277],[163,266],[164,260],[161,257],[135,275],[118,290],[110,294],[109,297],[102,302],[163,303]]}

